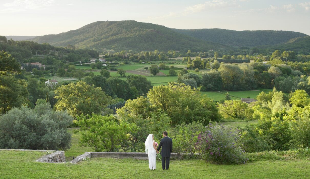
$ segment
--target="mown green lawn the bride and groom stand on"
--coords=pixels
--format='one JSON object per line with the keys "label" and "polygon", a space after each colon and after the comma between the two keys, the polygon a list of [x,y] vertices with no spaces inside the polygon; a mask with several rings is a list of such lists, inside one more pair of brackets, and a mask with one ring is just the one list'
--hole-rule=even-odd
{"label": "mown green lawn the bride and groom stand on", "polygon": [[148,169],[148,160],[92,158],[79,164],[39,163],[43,152],[0,151],[0,176],[6,178],[308,178],[306,159],[260,160],[240,165],[210,164],[204,160],[170,160]]}

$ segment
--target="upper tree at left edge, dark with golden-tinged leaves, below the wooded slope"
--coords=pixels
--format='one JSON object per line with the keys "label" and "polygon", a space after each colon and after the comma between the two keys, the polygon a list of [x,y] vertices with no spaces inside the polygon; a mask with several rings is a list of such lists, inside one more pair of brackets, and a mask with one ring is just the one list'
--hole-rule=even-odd
{"label": "upper tree at left edge, dark with golden-tinged leaves, below the wooded slope", "polygon": [[0,51],[0,75],[7,73],[20,73],[20,64],[8,54],[7,52]]}

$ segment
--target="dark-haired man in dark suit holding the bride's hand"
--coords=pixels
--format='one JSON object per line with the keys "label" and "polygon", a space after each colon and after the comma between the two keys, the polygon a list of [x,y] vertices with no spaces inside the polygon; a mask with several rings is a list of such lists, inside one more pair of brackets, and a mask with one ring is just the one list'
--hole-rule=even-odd
{"label": "dark-haired man in dark suit holding the bride's hand", "polygon": [[164,138],[162,138],[157,148],[157,151],[159,151],[160,147],[162,147],[162,151],[160,152],[160,154],[162,155],[162,169],[163,170],[165,168],[167,170],[169,169],[170,154],[172,152],[172,139],[168,137],[167,135],[168,133],[166,131],[162,133],[162,136],[164,136]]}

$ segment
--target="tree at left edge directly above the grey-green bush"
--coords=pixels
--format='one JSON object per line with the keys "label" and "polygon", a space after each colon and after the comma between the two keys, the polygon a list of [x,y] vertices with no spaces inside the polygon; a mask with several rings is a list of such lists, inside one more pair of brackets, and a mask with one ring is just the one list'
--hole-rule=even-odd
{"label": "tree at left edge directly above the grey-green bush", "polygon": [[0,114],[29,103],[27,82],[11,75],[0,75]]}

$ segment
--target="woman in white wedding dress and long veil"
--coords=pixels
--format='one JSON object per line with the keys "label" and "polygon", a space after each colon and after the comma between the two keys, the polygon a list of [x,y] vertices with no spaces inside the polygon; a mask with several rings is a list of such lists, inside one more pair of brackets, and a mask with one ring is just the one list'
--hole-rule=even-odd
{"label": "woman in white wedding dress and long veil", "polygon": [[148,167],[151,170],[155,170],[156,168],[156,153],[157,148],[155,147],[154,135],[149,134],[148,138],[145,140],[145,153],[148,154]]}

